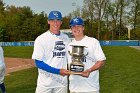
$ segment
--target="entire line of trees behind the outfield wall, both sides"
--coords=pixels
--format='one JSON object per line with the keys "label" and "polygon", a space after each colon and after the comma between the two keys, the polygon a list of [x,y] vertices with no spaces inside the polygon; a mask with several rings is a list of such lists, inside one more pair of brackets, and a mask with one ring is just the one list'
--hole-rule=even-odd
{"label": "entire line of trees behind the outfield wall, both sides", "polygon": [[[80,16],[85,21],[85,34],[99,40],[140,40],[139,0],[84,0],[83,6],[63,17],[61,29]],[[34,41],[49,29],[47,14],[34,13],[30,7],[5,6],[0,0],[0,41]],[[128,26],[131,38],[128,38]]]}

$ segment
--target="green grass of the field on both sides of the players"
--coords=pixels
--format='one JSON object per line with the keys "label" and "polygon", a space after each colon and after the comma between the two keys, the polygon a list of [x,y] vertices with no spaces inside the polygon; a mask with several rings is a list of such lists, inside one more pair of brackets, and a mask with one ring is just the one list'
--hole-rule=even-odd
{"label": "green grass of the field on both sides of the players", "polygon": [[[33,47],[4,47],[6,57],[31,58]],[[140,50],[127,46],[104,46],[107,57],[100,70],[101,93],[140,93]],[[6,76],[7,93],[34,93],[37,69]],[[86,86],[85,86],[86,87]]]}

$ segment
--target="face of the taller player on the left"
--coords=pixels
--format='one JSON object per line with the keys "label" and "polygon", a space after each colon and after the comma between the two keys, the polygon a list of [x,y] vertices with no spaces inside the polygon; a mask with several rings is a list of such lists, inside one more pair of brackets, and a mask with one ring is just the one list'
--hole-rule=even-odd
{"label": "face of the taller player on the left", "polygon": [[50,31],[59,31],[60,26],[62,24],[61,20],[49,20],[48,24],[50,24]]}

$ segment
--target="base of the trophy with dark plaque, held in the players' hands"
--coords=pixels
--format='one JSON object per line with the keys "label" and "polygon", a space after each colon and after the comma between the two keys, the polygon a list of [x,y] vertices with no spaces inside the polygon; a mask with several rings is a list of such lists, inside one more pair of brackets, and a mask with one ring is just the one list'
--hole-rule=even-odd
{"label": "base of the trophy with dark plaque, held in the players' hands", "polygon": [[72,62],[70,64],[70,74],[80,75],[84,71],[84,64],[79,62]]}

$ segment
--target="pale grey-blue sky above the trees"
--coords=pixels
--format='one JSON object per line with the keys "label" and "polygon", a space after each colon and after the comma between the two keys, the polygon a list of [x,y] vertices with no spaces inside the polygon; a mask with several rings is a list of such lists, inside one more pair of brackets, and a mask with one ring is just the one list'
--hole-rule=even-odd
{"label": "pale grey-blue sky above the trees", "polygon": [[29,6],[34,13],[44,11],[49,14],[52,10],[62,13],[62,16],[68,15],[76,6],[82,7],[83,0],[3,0],[5,5],[14,5],[16,7]]}

